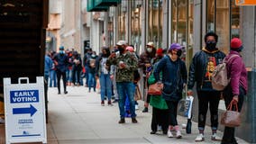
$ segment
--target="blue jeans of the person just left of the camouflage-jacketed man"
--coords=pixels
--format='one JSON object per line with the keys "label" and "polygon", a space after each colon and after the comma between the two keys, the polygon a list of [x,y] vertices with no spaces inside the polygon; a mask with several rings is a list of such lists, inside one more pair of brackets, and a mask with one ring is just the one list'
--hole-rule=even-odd
{"label": "blue jeans of the person just left of the camouflage-jacketed man", "polygon": [[111,101],[111,95],[112,95],[112,82],[110,79],[109,74],[101,74],[99,78],[100,83],[100,94],[101,94],[101,101],[104,101],[105,95],[108,98],[108,101]]}

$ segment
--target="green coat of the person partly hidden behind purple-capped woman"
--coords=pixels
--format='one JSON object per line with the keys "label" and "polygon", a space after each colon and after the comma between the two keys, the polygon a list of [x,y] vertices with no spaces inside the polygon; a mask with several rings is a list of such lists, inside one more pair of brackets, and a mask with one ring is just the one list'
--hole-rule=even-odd
{"label": "green coat of the person partly hidden behind purple-capped woman", "polygon": [[[156,83],[156,79],[153,75],[153,73],[151,73],[151,76],[148,79],[148,84],[152,85]],[[166,110],[168,109],[168,105],[165,102],[165,100],[161,97],[161,95],[151,95],[151,102],[150,102],[152,107],[161,109],[161,110]]]}

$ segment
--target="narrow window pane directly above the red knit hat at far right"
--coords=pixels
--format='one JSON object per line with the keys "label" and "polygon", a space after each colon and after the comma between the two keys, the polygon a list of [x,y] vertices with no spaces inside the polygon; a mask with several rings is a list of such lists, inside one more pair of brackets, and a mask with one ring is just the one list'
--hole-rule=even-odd
{"label": "narrow window pane directly above the red knit hat at far right", "polygon": [[235,0],[231,4],[231,38],[240,36],[240,6],[235,5]]}

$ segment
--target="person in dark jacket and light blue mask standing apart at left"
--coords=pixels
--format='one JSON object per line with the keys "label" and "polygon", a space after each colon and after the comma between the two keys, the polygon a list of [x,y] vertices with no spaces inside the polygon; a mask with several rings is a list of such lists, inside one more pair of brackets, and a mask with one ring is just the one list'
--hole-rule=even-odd
{"label": "person in dark jacket and light blue mask standing apart at left", "polygon": [[67,85],[66,85],[66,70],[69,65],[69,58],[65,55],[64,47],[59,47],[59,53],[54,58],[54,63],[56,66],[56,73],[57,73],[57,85],[58,85],[58,94],[60,94],[60,77],[62,76],[63,80],[63,87],[64,87],[64,94],[68,94]]}

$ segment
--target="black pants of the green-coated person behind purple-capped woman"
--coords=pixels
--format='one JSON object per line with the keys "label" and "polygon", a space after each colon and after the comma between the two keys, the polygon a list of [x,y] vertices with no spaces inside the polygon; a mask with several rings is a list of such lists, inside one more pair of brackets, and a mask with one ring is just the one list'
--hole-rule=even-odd
{"label": "black pants of the green-coated person behind purple-capped woman", "polygon": [[152,120],[151,120],[151,130],[157,131],[158,125],[161,126],[162,130],[166,132],[168,130],[168,110],[161,110],[158,108],[153,107],[152,110]]}

